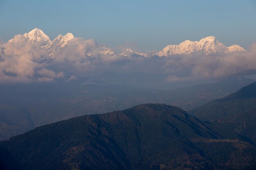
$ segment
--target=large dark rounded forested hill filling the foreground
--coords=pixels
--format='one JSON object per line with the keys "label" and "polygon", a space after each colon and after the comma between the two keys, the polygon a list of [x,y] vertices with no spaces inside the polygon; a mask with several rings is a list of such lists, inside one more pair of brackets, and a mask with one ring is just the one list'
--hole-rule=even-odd
{"label": "large dark rounded forested hill filling the foreground", "polygon": [[164,104],[41,126],[0,142],[0,148],[2,166],[23,170],[248,170],[256,165],[255,147],[248,142],[222,139],[184,110]]}

